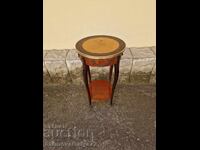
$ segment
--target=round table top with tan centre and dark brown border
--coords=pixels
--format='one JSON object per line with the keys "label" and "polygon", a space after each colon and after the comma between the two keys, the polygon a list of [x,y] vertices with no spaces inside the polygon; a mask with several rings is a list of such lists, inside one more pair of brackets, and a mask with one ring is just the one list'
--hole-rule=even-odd
{"label": "round table top with tan centre and dark brown border", "polygon": [[126,44],[121,39],[108,35],[89,36],[76,43],[77,52],[91,59],[107,59],[122,54]]}

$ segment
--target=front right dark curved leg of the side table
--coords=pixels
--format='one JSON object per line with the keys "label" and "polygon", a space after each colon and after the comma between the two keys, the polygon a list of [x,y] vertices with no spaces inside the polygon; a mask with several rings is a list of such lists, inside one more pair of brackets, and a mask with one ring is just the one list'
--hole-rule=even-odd
{"label": "front right dark curved leg of the side table", "polygon": [[117,84],[117,81],[118,81],[118,77],[119,77],[119,62],[120,62],[120,58],[121,58],[121,56],[118,56],[117,57],[117,63],[114,64],[115,75],[114,75],[114,81],[113,81],[113,85],[112,85],[112,95],[111,95],[110,105],[112,105],[113,95],[114,95],[115,87],[116,87],[116,84]]}

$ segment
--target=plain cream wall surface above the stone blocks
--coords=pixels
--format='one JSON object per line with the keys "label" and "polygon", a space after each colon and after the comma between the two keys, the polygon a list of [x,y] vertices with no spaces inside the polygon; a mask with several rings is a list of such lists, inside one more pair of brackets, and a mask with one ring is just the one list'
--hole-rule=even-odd
{"label": "plain cream wall surface above the stone blocks", "polygon": [[127,47],[156,45],[156,0],[43,0],[44,49],[74,48],[86,36],[113,35]]}

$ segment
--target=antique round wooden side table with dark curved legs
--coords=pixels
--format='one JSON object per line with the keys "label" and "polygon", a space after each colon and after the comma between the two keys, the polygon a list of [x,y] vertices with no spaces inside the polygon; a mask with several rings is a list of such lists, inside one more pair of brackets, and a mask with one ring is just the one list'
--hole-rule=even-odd
{"label": "antique round wooden side table with dark curved legs", "polygon": [[[96,100],[112,99],[119,76],[119,63],[125,50],[121,39],[107,35],[95,35],[81,39],[76,43],[78,56],[83,64],[83,80],[87,89],[89,104]],[[110,66],[109,80],[92,80],[90,66]],[[114,79],[112,72],[114,67]]]}

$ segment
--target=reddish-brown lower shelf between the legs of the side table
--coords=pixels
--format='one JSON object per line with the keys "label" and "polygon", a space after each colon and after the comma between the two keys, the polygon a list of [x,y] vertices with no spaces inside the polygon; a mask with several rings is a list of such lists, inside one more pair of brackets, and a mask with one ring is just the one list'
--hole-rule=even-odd
{"label": "reddish-brown lower shelf between the legs of the side table", "polygon": [[107,80],[93,80],[89,84],[92,101],[109,100],[112,95],[112,85]]}

